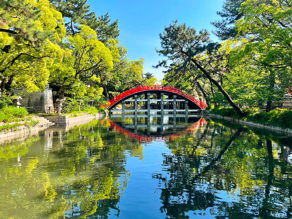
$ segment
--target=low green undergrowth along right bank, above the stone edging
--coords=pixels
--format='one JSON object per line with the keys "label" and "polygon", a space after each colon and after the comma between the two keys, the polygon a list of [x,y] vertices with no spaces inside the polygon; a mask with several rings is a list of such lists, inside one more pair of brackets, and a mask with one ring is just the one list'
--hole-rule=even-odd
{"label": "low green undergrowth along right bank, above the stone edging", "polygon": [[260,113],[258,110],[252,112],[251,109],[247,108],[243,109],[243,111],[247,113],[245,118],[241,118],[232,107],[215,107],[210,111],[210,113],[237,119],[244,119],[265,125],[292,128],[292,111],[289,109],[274,109],[269,112]]}

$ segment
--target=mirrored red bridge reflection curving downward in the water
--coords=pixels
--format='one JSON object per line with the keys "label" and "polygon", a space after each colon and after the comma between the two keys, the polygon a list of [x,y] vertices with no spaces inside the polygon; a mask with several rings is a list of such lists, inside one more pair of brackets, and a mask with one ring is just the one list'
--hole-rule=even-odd
{"label": "mirrored red bridge reflection curving downward in the water", "polygon": [[170,140],[199,127],[206,127],[206,120],[197,115],[187,114],[147,114],[110,115],[111,128],[130,138],[143,142]]}

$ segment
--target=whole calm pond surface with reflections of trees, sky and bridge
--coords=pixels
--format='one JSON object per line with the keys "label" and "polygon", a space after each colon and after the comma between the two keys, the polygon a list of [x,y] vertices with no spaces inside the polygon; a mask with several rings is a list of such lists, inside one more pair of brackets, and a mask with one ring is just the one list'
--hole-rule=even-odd
{"label": "whole calm pond surface with reflections of trees, sky and bridge", "polygon": [[0,219],[292,218],[292,139],[113,115],[0,141]]}

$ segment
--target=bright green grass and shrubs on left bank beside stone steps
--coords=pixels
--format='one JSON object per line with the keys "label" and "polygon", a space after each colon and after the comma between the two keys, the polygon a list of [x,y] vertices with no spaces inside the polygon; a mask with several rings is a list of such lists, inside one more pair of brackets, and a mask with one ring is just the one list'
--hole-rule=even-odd
{"label": "bright green grass and shrubs on left bank beside stone steps", "polygon": [[27,114],[27,109],[24,107],[3,107],[0,109],[0,132],[5,131],[7,133],[9,131],[17,131],[19,130],[20,126],[26,126],[30,128],[39,123],[39,121],[35,121],[31,117],[27,117]]}

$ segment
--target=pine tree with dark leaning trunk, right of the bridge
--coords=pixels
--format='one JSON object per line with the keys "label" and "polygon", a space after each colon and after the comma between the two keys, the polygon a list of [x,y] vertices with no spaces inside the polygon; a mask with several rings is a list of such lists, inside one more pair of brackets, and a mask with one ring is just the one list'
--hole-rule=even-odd
{"label": "pine tree with dark leaning trunk, right of the bridge", "polygon": [[210,40],[207,30],[197,33],[194,28],[186,27],[185,23],[177,25],[175,21],[165,27],[160,40],[162,49],[157,50],[157,53],[167,59],[159,61],[154,67],[166,67],[164,72],[172,72],[174,75],[183,74],[188,69],[204,75],[241,117],[246,116],[216,79],[218,75],[228,72],[227,55],[219,49],[220,44]]}

